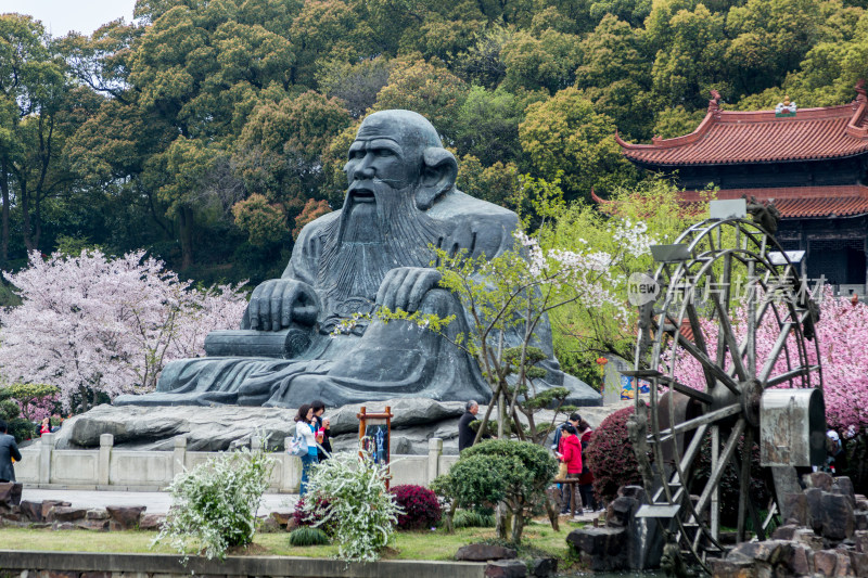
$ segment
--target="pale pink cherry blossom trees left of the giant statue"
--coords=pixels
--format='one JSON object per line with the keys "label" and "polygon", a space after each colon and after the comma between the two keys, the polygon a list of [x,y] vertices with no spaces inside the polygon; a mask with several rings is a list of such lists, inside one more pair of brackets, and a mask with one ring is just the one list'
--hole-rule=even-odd
{"label": "pale pink cherry blossom trees left of the giant statue", "polygon": [[144,251],[34,252],[27,269],[3,274],[23,303],[0,311],[0,372],[58,386],[67,410],[75,394],[88,409],[88,388],[153,390],[166,362],[202,355],[205,335],[238,327],[246,307],[240,286],[193,288]]}

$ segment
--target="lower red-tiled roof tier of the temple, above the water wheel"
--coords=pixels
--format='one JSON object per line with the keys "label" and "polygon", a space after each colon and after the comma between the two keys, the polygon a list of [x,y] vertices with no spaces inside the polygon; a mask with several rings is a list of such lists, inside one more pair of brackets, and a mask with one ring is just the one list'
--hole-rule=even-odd
{"label": "lower red-tiled roof tier of the temple, above the water wheel", "polygon": [[[681,191],[686,204],[698,203],[709,191]],[[775,201],[775,206],[784,218],[855,217],[868,214],[868,187],[841,184],[830,187],[778,187],[769,189],[722,189],[715,198],[731,201],[742,196],[754,196],[757,201]],[[614,201],[591,197],[602,206]],[[614,205],[612,205],[614,206]]]}

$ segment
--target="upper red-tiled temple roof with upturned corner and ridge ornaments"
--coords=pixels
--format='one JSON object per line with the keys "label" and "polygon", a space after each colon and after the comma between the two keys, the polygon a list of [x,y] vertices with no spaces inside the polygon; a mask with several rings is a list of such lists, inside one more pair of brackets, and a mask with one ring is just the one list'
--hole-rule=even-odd
{"label": "upper red-tiled temple roof with upturned corner and ridge ornaments", "polygon": [[712,91],[709,112],[690,134],[630,144],[617,134],[624,155],[661,167],[780,163],[841,158],[868,153],[868,98],[856,85],[851,104],[803,108],[794,115],[775,111],[730,112]]}

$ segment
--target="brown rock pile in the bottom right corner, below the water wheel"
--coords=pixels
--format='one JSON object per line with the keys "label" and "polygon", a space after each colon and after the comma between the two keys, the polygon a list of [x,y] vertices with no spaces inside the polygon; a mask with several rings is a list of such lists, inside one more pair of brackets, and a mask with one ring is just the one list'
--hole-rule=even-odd
{"label": "brown rock pile in the bottom right corner, below the water wheel", "polygon": [[868,499],[847,477],[821,472],[783,497],[786,524],[770,540],[744,542],[711,564],[714,576],[868,577]]}

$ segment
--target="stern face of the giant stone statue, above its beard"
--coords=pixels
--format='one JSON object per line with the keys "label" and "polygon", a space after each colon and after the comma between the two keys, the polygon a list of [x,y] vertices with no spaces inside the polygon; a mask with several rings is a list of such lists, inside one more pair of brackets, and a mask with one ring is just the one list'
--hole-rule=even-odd
{"label": "stern face of the giant stone statue, above its beard", "polygon": [[376,181],[406,189],[418,180],[419,146],[406,142],[401,128],[388,117],[371,116],[362,123],[344,166],[354,201],[373,203]]}

